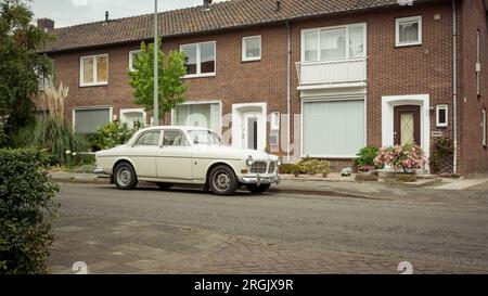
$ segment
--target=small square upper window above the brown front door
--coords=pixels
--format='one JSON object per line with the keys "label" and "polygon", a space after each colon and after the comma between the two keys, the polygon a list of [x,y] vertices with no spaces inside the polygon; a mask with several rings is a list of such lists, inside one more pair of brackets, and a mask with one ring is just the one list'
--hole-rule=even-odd
{"label": "small square upper window above the brown front door", "polygon": [[396,20],[396,46],[409,47],[422,44],[422,16]]}

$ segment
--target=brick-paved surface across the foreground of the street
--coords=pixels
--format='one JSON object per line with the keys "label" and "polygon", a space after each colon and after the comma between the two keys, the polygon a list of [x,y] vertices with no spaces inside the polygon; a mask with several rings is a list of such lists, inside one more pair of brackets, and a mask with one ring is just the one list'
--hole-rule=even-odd
{"label": "brick-paved surface across the foreground of the street", "polygon": [[[229,236],[207,230],[142,221],[65,217],[55,224],[50,273],[75,273],[84,261],[89,273],[400,273],[404,258],[322,249],[307,243],[283,243]],[[478,273],[473,266],[419,260],[414,273]]]}

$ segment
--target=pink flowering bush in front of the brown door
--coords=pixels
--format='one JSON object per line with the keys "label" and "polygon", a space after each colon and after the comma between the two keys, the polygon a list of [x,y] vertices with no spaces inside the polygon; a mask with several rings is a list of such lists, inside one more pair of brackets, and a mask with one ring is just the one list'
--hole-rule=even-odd
{"label": "pink flowering bush in front of the brown door", "polygon": [[387,165],[395,170],[412,172],[413,169],[424,166],[425,154],[419,145],[413,144],[381,147],[376,158],[374,158],[374,164],[377,167]]}

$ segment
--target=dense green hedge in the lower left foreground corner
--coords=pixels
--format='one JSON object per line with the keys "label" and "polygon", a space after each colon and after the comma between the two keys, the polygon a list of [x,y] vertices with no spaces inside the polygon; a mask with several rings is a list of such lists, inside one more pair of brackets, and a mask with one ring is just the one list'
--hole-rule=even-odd
{"label": "dense green hedge in the lower left foreground corner", "polygon": [[0,273],[43,273],[59,191],[43,151],[0,150]]}

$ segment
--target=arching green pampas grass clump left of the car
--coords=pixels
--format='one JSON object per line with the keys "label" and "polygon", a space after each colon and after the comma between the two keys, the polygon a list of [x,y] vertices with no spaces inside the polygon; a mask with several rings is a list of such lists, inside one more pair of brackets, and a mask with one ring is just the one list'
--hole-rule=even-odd
{"label": "arching green pampas grass clump left of the car", "polygon": [[[16,147],[46,149],[51,154],[51,164],[67,165],[72,152],[85,151],[86,139],[72,130],[62,120],[43,116],[34,126],[26,127],[13,138]],[[66,152],[69,151],[69,154]]]}

